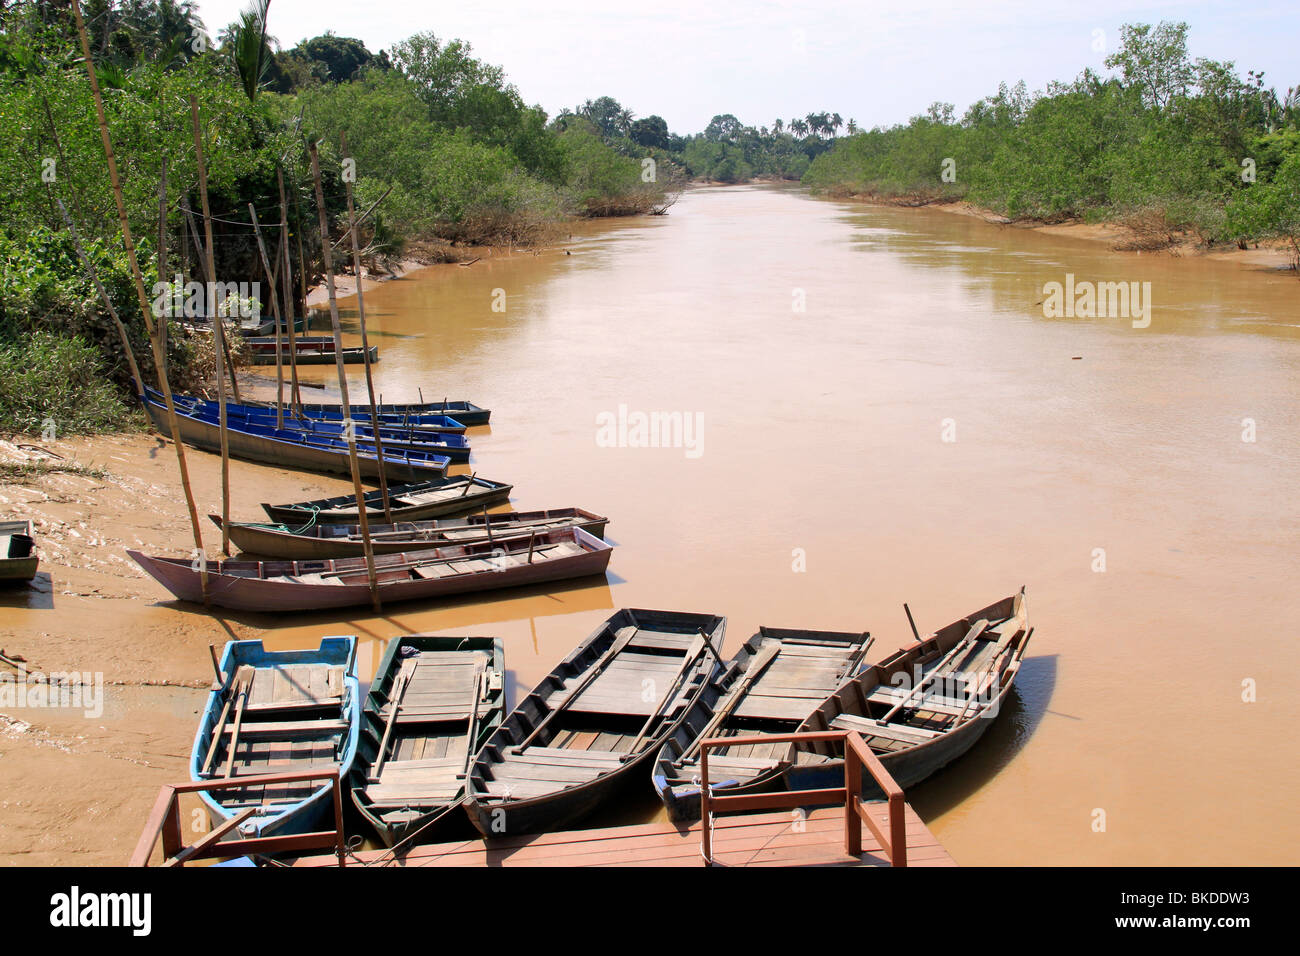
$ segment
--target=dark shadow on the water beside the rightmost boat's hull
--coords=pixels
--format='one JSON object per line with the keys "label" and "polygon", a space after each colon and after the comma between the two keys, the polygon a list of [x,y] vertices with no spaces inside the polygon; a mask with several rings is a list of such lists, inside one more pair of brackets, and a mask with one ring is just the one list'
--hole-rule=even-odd
{"label": "dark shadow on the water beside the rightmost boat's hull", "polygon": [[907,790],[907,803],[916,813],[923,819],[948,813],[1010,763],[1048,713],[1056,682],[1057,654],[1026,657],[1001,713],[980,741],[928,780]]}

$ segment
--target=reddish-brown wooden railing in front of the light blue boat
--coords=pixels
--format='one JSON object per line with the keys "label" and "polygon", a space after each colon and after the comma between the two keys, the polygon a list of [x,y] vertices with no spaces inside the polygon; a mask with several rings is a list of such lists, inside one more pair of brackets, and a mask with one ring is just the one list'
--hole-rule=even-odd
{"label": "reddish-brown wooden railing in front of the light blue boat", "polygon": [[[181,838],[181,801],[178,797],[182,793],[231,788],[242,790],[244,787],[278,787],[299,780],[329,780],[334,800],[334,830],[290,834],[286,836],[237,836],[226,839],[229,834],[238,832],[239,825],[254,816],[256,808],[248,808],[213,827],[188,845]],[[302,770],[289,774],[263,774],[260,777],[230,777],[162,787],[157,801],[153,804],[153,810],[150,813],[150,819],[144,825],[144,832],[140,834],[140,840],[135,844],[130,865],[148,866],[159,838],[162,839],[164,866],[185,866],[191,860],[248,856],[252,853],[302,853],[328,847],[333,847],[338,855],[338,865],[346,866],[347,848],[343,843],[343,790],[338,779],[338,769]]]}

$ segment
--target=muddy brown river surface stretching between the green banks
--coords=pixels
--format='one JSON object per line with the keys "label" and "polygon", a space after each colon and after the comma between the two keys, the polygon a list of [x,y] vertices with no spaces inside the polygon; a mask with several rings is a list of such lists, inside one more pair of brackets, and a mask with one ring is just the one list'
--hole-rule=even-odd
{"label": "muddy brown river surface stretching between the green banks", "polygon": [[[1149,326],[1045,317],[1067,273],[1149,282]],[[1295,864],[1297,302],[1236,263],[779,187],[422,269],[365,293],[384,399],[491,407],[472,468],[610,515],[607,583],[266,636],[355,632],[368,672],[402,631],[499,635],[514,702],[616,607],[724,614],[728,652],[868,630],[878,659],[904,601],[932,631],[1024,584],[1010,705],[907,792],[958,862]],[[638,412],[692,431],[620,441]]]}

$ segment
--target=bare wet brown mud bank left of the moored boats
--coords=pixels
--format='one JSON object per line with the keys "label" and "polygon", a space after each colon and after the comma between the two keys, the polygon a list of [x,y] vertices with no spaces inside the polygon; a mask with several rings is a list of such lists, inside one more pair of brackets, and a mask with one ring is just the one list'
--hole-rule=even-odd
{"label": "bare wet brown mud bank left of the moored boats", "polygon": [[[263,632],[156,604],[157,585],[125,554],[192,546],[170,444],[113,434],[23,445],[0,442],[0,462],[75,463],[92,473],[49,471],[0,485],[0,512],[32,520],[40,554],[30,587],[0,591],[0,650],[30,674],[27,692],[0,705],[0,865],[121,866],[159,787],[188,777],[212,679],[208,644]],[[211,455],[187,454],[204,544],[214,554],[221,538],[207,515],[221,510],[220,468]],[[257,489],[256,501],[350,488],[237,460],[230,472],[235,489]],[[234,514],[255,519],[246,501],[235,498]],[[0,671],[21,679],[12,666],[0,663]],[[99,705],[86,697],[91,706],[32,706],[42,696],[36,675],[60,671],[98,685]]]}

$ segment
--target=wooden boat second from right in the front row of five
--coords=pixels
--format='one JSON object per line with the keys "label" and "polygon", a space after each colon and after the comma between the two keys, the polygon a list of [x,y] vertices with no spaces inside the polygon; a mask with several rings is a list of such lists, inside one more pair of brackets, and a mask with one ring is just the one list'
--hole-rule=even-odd
{"label": "wooden boat second from right in the front row of five", "polygon": [[[668,819],[699,819],[699,741],[706,737],[793,734],[812,709],[858,672],[867,632],[760,627],[728,661],[681,726],[664,740],[650,782]],[[728,793],[776,787],[794,760],[793,744],[745,744],[708,752],[708,780]]]}

